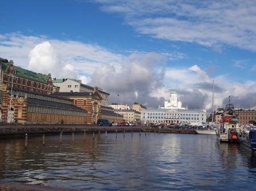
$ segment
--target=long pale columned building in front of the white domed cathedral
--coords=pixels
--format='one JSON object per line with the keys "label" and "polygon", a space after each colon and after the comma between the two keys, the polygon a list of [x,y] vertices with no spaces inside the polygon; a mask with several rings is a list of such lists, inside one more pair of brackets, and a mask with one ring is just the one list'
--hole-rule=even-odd
{"label": "long pale columned building in front of the white domed cathedral", "polygon": [[189,124],[200,125],[207,120],[204,109],[146,109],[141,111],[144,124]]}

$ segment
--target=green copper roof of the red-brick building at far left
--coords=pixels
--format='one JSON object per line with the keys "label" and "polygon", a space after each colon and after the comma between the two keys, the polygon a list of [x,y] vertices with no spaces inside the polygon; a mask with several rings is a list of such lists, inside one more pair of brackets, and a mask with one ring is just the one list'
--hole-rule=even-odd
{"label": "green copper roof of the red-brick building at far left", "polygon": [[[3,71],[6,72],[7,67],[9,67],[11,62],[13,62],[13,61],[10,60],[9,63],[2,63]],[[26,70],[19,66],[14,66],[14,69],[16,70],[16,74],[15,74],[16,77],[32,79],[34,81],[37,81],[40,83],[45,83],[45,84],[47,84],[47,80],[48,80],[49,76],[51,76],[51,74],[44,75],[44,74],[40,74],[40,73],[35,73],[34,71]]]}

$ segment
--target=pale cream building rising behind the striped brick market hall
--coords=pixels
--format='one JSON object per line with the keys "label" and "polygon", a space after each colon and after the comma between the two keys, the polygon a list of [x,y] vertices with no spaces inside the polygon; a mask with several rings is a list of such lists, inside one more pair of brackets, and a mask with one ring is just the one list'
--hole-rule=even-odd
{"label": "pale cream building rising behind the striped brick market hall", "polygon": [[[59,87],[59,92],[93,92],[94,88],[86,84],[82,84],[81,80],[76,79],[56,79],[53,78],[53,85]],[[98,87],[97,87],[98,88]],[[109,93],[104,92],[98,88],[98,94],[101,95],[101,105],[109,106]]]}

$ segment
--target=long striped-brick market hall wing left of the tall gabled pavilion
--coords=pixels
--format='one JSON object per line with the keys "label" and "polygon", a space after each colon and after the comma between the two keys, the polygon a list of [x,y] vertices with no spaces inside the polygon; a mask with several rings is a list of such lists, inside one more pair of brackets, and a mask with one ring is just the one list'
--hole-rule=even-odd
{"label": "long striped-brick market hall wing left of the tall gabled pavilion", "polygon": [[19,124],[86,124],[87,111],[73,100],[10,88],[0,83],[1,121]]}

